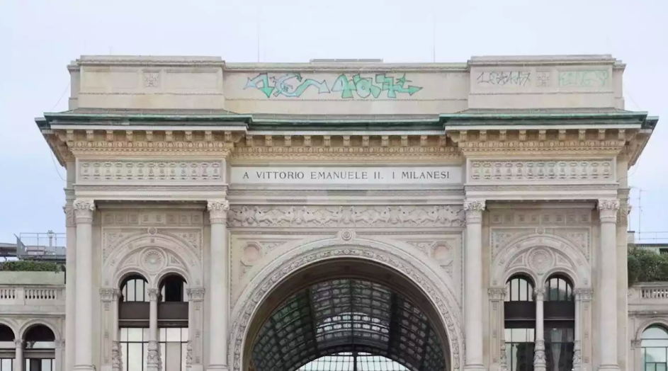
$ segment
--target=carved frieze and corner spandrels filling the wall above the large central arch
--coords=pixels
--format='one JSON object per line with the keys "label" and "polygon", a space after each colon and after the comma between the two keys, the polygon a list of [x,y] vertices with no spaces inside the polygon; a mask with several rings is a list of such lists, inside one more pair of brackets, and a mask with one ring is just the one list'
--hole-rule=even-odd
{"label": "carved frieze and corner spandrels filling the wall above the large central arch", "polygon": [[[429,261],[462,296],[461,205],[232,205],[227,217],[232,300],[259,270],[313,241],[356,234]],[[418,228],[416,230],[416,227]],[[443,232],[448,232],[443,234]]]}

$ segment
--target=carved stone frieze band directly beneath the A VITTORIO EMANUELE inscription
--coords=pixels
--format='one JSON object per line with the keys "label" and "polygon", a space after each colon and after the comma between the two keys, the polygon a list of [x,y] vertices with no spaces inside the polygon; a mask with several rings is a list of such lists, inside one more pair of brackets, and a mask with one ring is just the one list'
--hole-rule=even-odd
{"label": "carved stone frieze band directly beneath the A VITTORIO EMANUELE inscription", "polygon": [[253,206],[233,205],[230,227],[463,227],[458,205]]}

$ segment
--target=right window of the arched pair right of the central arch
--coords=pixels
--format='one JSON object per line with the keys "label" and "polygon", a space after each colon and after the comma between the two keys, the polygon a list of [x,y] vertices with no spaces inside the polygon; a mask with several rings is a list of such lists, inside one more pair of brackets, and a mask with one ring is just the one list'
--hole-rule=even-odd
{"label": "right window of the arched pair right of the central arch", "polygon": [[545,281],[545,361],[547,371],[571,371],[575,327],[573,285],[565,275]]}

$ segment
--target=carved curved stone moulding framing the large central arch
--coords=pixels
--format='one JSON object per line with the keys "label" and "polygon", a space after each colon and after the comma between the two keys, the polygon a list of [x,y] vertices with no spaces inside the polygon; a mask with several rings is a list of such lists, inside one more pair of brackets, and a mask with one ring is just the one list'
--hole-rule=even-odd
{"label": "carved curved stone moulding framing the large central arch", "polygon": [[285,251],[249,279],[239,300],[234,304],[230,317],[228,364],[232,365],[232,370],[241,370],[249,325],[272,290],[300,268],[336,258],[358,258],[383,264],[402,273],[424,291],[434,304],[441,323],[446,327],[452,370],[460,369],[460,365],[463,365],[463,333],[460,329],[463,315],[452,294],[452,282],[438,268],[426,263],[424,257],[414,256],[385,242],[358,238],[354,232],[344,231],[336,238],[312,241],[302,244],[298,249]]}

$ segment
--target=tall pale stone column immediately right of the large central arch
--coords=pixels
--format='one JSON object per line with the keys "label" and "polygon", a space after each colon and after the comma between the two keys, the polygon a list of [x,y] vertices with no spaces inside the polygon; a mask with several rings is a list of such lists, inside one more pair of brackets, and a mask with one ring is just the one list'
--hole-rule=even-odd
{"label": "tall pale stone column immediately right of the large central arch", "polygon": [[482,211],[485,200],[464,201],[466,212],[465,364],[464,370],[484,370],[482,363]]}

